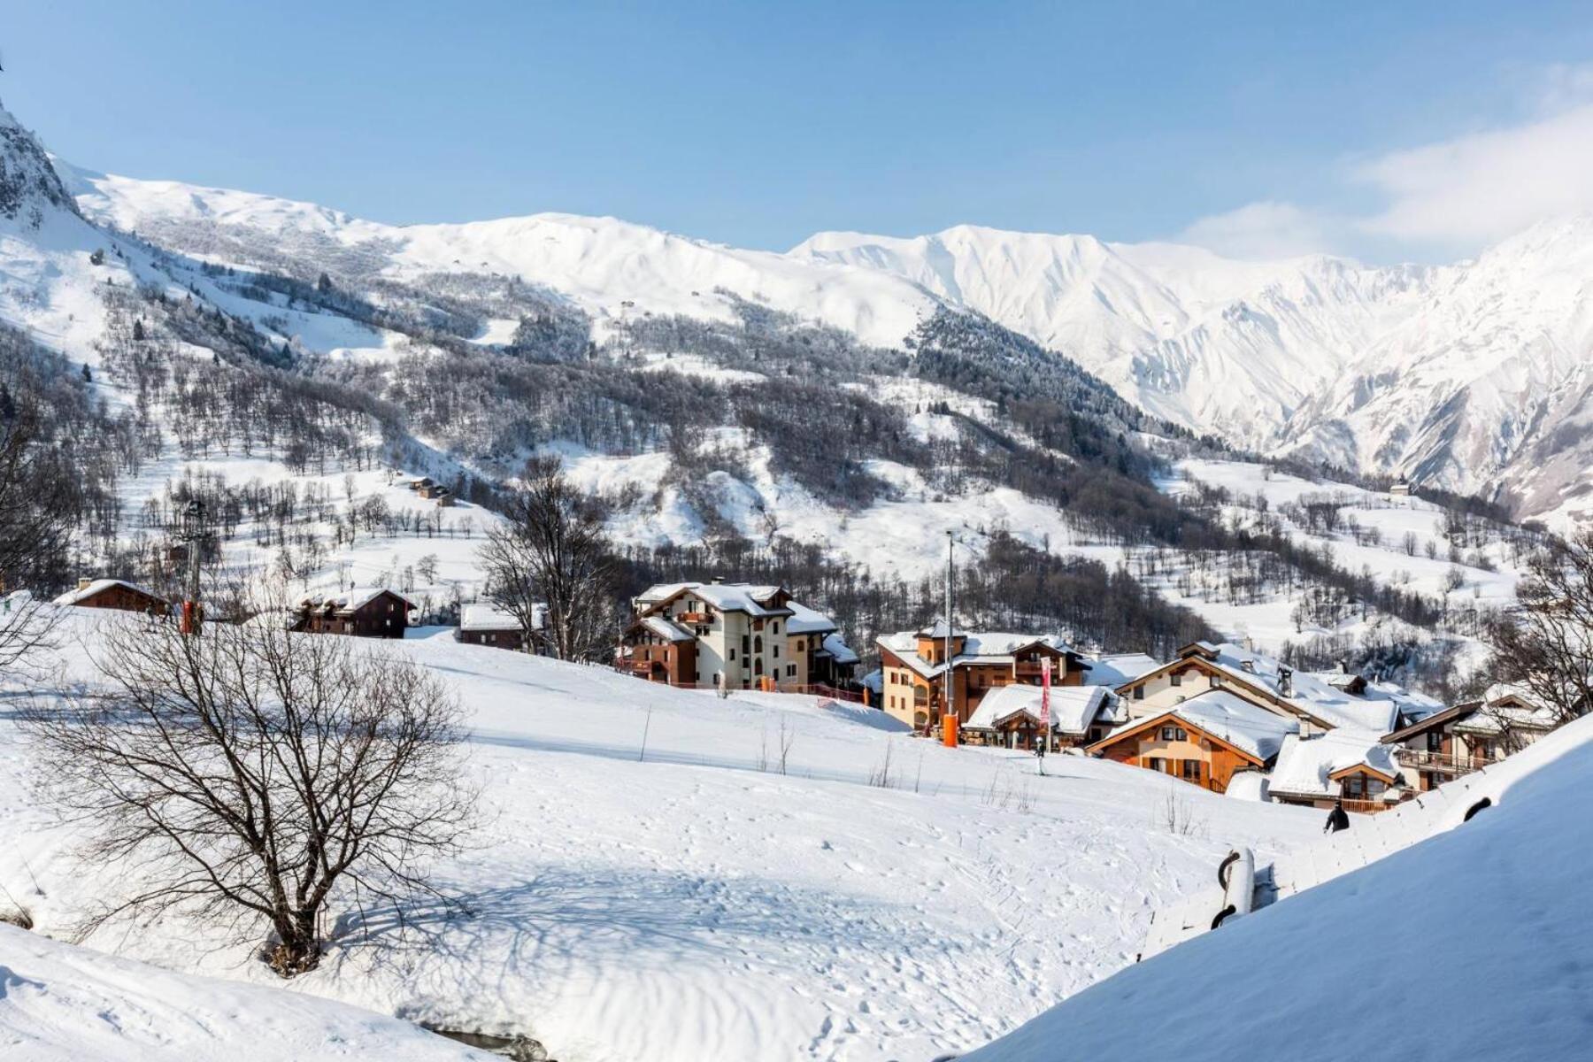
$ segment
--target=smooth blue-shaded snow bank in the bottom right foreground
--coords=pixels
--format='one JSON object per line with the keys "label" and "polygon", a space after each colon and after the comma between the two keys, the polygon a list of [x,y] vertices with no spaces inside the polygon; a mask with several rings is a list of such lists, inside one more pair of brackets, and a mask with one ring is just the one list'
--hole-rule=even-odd
{"label": "smooth blue-shaded snow bank in the bottom right foreground", "polygon": [[1462,826],[1129,966],[965,1062],[1587,1057],[1593,720]]}

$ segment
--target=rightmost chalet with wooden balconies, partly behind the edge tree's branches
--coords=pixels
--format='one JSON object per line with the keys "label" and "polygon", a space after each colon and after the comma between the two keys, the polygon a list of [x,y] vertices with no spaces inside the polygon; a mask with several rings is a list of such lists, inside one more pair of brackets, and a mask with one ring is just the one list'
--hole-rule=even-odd
{"label": "rightmost chalet with wooden balconies, partly behind the edge tree's branches", "polygon": [[1489,693],[1489,699],[1434,712],[1383,737],[1394,748],[1394,763],[1408,788],[1426,793],[1450,779],[1480,771],[1563,721],[1518,691]]}

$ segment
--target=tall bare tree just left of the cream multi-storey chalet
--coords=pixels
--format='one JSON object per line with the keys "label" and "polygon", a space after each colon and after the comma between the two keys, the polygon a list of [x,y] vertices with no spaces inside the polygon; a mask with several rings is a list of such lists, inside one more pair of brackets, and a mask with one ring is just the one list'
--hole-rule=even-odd
{"label": "tall bare tree just left of the cream multi-storey chalet", "polygon": [[532,635],[545,605],[553,654],[599,659],[613,643],[618,560],[597,506],[564,478],[558,459],[534,459],[505,497],[503,516],[478,552],[487,595]]}

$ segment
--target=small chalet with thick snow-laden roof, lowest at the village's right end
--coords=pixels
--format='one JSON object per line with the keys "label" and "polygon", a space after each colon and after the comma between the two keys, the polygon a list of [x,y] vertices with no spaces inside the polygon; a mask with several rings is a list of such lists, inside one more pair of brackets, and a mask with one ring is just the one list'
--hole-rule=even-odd
{"label": "small chalet with thick snow-laden roof, lowest at the village's right end", "polygon": [[1380,812],[1410,795],[1394,763],[1394,747],[1375,731],[1338,729],[1303,737],[1289,734],[1266,779],[1268,796],[1279,804]]}

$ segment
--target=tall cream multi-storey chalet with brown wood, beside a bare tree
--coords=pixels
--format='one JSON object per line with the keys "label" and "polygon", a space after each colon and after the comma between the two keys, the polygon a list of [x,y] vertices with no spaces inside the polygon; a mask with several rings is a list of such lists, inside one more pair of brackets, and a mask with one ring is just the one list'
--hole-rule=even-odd
{"label": "tall cream multi-storey chalet with brown wood, beside a bare tree", "polygon": [[849,685],[857,654],[784,586],[663,583],[632,602],[620,667],[674,686]]}

